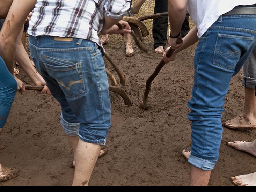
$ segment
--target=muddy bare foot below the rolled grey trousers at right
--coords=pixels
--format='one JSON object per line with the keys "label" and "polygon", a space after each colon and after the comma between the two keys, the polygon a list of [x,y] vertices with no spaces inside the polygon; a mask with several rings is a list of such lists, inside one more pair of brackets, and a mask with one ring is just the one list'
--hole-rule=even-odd
{"label": "muddy bare foot below the rolled grey trousers at right", "polygon": [[255,117],[244,115],[244,113],[242,113],[240,116],[223,123],[223,126],[230,129],[256,130],[255,121]]}

